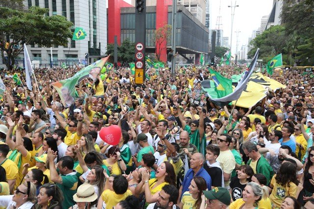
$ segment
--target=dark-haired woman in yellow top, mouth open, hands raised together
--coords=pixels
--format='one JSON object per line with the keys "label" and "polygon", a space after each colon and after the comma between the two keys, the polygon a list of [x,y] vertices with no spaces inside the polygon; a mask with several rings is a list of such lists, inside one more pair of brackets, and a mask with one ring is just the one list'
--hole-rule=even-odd
{"label": "dark-haired woman in yellow top, mouth open, hands raised together", "polygon": [[156,178],[150,180],[148,171],[142,171],[142,180],[135,187],[135,196],[145,193],[146,207],[149,203],[155,203],[159,192],[166,184],[176,185],[176,174],[172,164],[165,161],[160,164],[156,171]]}

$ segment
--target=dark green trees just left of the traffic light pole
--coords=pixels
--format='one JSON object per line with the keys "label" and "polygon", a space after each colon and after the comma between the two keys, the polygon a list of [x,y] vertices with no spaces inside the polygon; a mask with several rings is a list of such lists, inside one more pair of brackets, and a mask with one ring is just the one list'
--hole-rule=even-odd
{"label": "dark green trees just left of the traffic light pole", "polygon": [[[124,40],[121,46],[118,46],[118,61],[121,63],[121,66],[128,66],[130,62],[134,61],[135,57],[135,44],[130,41],[129,38]],[[114,58],[114,44],[107,45],[106,54],[110,54],[110,60],[113,62]]]}

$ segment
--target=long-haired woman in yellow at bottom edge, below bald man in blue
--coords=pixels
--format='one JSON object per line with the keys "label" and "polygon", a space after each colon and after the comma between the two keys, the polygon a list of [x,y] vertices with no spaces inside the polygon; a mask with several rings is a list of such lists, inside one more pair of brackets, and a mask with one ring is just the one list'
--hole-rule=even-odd
{"label": "long-haired woman in yellow at bottom edge, below bald man in blue", "polygon": [[[202,203],[203,191],[207,189],[206,181],[203,177],[194,177],[191,181],[188,191],[183,193],[180,208],[181,209],[199,209]],[[191,207],[191,204],[193,207]]]}

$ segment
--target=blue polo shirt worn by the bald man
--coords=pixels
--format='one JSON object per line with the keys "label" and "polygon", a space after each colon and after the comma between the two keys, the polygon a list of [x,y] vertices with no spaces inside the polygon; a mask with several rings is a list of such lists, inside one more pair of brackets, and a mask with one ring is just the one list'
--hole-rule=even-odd
{"label": "blue polo shirt worn by the bald man", "polygon": [[[195,174],[195,176],[203,177],[207,183],[208,190],[211,189],[211,178],[210,178],[208,172],[203,167]],[[186,175],[185,175],[184,180],[182,182],[182,193],[181,193],[180,200],[182,198],[183,193],[188,191],[188,187],[190,186],[193,178],[194,178],[194,171],[192,168],[190,168],[186,172]]]}

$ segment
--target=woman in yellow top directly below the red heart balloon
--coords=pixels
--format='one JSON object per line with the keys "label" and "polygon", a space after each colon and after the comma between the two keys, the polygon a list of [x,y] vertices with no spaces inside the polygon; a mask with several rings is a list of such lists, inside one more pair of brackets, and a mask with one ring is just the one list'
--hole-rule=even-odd
{"label": "woman in yellow top directly below the red heart balloon", "polygon": [[112,146],[108,149],[109,158],[103,160],[105,166],[109,169],[110,174],[121,175],[127,170],[125,162],[121,159],[120,149]]}

